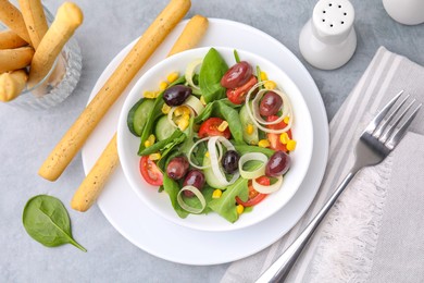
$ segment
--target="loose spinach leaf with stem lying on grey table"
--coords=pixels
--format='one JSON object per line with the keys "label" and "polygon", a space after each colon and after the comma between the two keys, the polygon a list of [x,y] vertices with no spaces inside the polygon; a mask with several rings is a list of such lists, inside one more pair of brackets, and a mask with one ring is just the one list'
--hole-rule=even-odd
{"label": "loose spinach leaf with stem lying on grey table", "polygon": [[29,199],[24,208],[22,221],[29,236],[47,247],[72,244],[87,251],[72,237],[67,211],[55,197],[38,195]]}

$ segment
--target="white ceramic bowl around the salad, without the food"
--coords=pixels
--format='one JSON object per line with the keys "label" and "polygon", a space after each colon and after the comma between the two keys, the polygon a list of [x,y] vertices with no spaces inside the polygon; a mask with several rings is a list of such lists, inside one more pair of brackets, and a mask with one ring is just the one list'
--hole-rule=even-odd
{"label": "white ceramic bowl around the salad, without the food", "polygon": [[[297,148],[290,153],[291,168],[285,175],[283,187],[267,196],[262,202],[257,205],[252,212],[244,213],[235,223],[229,223],[215,212],[209,214],[189,214],[186,219],[180,219],[174,211],[170,198],[165,192],[158,193],[158,187],[145,182],[139,172],[139,159],[137,156],[139,138],[134,136],[127,127],[126,119],[129,109],[138,101],[145,90],[154,90],[166,75],[178,71],[184,74],[188,63],[195,59],[203,58],[210,48],[198,48],[188,50],[170,57],[154,65],[142,75],[130,90],[122,109],[117,126],[117,151],[121,165],[130,186],[142,200],[140,206],[148,206],[158,214],[183,226],[203,231],[230,231],[255,224],[278,211],[295,195],[301,185],[308,171],[313,147],[313,130],[311,115],[304,102],[302,94],[294,82],[286,75],[284,65],[277,67],[272,62],[253,53],[237,49],[241,60],[248,61],[253,67],[259,65],[266,72],[270,79],[277,83],[279,89],[289,97],[294,109],[292,135],[297,140]],[[227,64],[235,64],[233,48],[215,48]],[[304,94],[308,95],[308,94]],[[278,223],[275,223],[278,225]]]}

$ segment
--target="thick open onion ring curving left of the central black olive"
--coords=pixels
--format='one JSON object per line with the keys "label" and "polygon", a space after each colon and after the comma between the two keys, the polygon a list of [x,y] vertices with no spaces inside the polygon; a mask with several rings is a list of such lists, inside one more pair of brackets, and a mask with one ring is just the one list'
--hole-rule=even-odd
{"label": "thick open onion ring curving left of the central black olive", "polygon": [[232,180],[227,181],[222,168],[220,167],[220,161],[219,161],[217,156],[216,156],[216,146],[215,145],[220,144],[220,143],[222,143],[227,148],[227,150],[235,150],[235,148],[234,148],[233,144],[229,143],[228,139],[226,139],[225,137],[222,137],[222,136],[213,136],[208,142],[208,150],[209,150],[209,156],[211,159],[212,172],[215,175],[217,183],[221,184],[220,187],[226,187],[226,186],[229,186],[230,184],[233,184],[234,182],[236,182],[237,179],[240,176],[240,173],[236,172],[233,175]]}

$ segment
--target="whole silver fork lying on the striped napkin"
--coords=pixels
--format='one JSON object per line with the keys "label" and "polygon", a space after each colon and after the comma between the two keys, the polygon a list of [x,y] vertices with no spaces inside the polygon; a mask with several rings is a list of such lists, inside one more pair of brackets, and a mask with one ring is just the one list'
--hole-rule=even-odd
{"label": "whole silver fork lying on the striped napkin", "polygon": [[[409,98],[408,95],[397,104],[395,110],[390,112],[390,109],[399,100],[402,93],[403,90],[394,97],[366,126],[358,140],[356,147],[357,159],[352,169],[298,238],[264,273],[261,274],[257,282],[284,282],[308,241],[312,237],[321,221],[358,171],[364,167],[378,164],[399,144],[422,106],[420,103],[411,112],[410,109],[415,104],[414,99],[403,111],[401,111],[402,106]],[[410,112],[410,114],[406,118],[408,112]]]}

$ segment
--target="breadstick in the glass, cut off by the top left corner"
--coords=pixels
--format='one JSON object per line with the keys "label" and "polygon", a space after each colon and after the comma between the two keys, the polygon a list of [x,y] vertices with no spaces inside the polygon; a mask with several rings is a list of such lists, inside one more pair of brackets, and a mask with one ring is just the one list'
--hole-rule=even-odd
{"label": "breadstick in the glass, cut off by the top left corner", "polygon": [[11,4],[9,0],[0,0],[0,22],[3,22],[26,42],[32,44],[28,32],[26,30],[24,17],[20,10]]}

